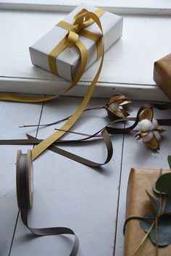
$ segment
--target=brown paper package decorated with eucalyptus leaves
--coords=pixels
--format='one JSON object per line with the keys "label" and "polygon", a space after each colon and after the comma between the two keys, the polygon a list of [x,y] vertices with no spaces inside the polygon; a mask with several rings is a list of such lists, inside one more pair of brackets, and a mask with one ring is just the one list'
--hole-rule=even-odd
{"label": "brown paper package decorated with eucalyptus leaves", "polygon": [[[168,173],[169,170],[162,170],[162,174]],[[130,216],[143,217],[152,208],[146,190],[156,197],[152,186],[159,178],[159,170],[153,169],[134,169],[130,170],[127,191],[126,218]],[[125,256],[133,256],[138,245],[141,243],[145,232],[139,225],[140,220],[129,220],[125,229]],[[156,256],[155,246],[149,238],[139,250],[137,256]],[[170,256],[171,245],[159,247],[159,256]]]}

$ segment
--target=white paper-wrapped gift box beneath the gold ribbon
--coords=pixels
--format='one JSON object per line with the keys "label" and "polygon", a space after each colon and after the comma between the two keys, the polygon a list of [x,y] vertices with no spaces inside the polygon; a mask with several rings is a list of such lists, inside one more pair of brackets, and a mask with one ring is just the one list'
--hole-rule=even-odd
{"label": "white paper-wrapped gift box beneath the gold ribbon", "polygon": [[[90,12],[95,12],[97,8],[87,4],[80,4],[80,6],[76,7],[64,18],[64,21],[72,24],[73,17],[81,9],[88,9]],[[107,51],[107,49],[122,36],[122,17],[113,15],[110,12],[104,12],[100,17],[100,21],[104,32],[104,50]],[[99,34],[99,28],[95,22],[86,27],[86,30]],[[50,71],[48,55],[66,34],[67,30],[54,26],[46,35],[33,44],[33,46],[30,47],[30,57],[33,65]],[[79,36],[79,38],[88,50],[87,69],[97,59],[96,42],[83,36]],[[67,47],[67,49],[62,51],[57,57],[57,71],[59,76],[67,80],[73,80],[78,71],[79,64],[80,54],[77,49],[75,47]]]}

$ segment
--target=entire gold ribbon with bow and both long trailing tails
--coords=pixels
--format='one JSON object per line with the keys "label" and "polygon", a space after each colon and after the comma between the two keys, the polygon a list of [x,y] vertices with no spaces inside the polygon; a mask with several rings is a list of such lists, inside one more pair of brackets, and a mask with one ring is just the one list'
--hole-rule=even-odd
{"label": "entire gold ribbon with bow and both long trailing tails", "polygon": [[[54,141],[57,141],[60,137],[64,135],[66,131],[68,131],[72,125],[78,120],[80,115],[82,114],[83,110],[86,108],[91,95],[93,93],[93,88],[96,86],[96,82],[99,78],[99,75],[101,73],[101,68],[104,61],[104,43],[103,43],[103,29],[101,26],[101,22],[99,20],[99,17],[104,14],[104,10],[97,9],[96,12],[88,12],[86,9],[82,9],[80,12],[78,12],[74,19],[72,24],[61,21],[57,25],[68,30],[69,33],[67,33],[67,36],[65,36],[62,41],[57,44],[56,47],[50,52],[49,54],[49,67],[51,70],[51,73],[58,74],[57,73],[57,65],[56,65],[56,59],[59,56],[59,54],[64,51],[67,47],[75,46],[77,47],[78,51],[80,52],[80,68],[78,70],[78,73],[75,75],[74,80],[72,81],[71,85],[67,90],[65,90],[62,94],[69,91],[71,88],[73,88],[78,81],[80,80],[80,77],[83,75],[84,71],[86,70],[86,64],[87,64],[87,58],[88,58],[88,51],[86,49],[86,46],[79,40],[80,36],[85,36],[86,38],[90,38],[93,41],[96,41],[96,47],[97,47],[97,58],[101,56],[101,62],[99,65],[99,69],[97,70],[96,75],[93,78],[93,81],[91,82],[91,85],[88,86],[88,90],[86,92],[85,97],[83,98],[83,101],[81,102],[78,109],[75,111],[75,113],[70,117],[69,120],[67,120],[64,125],[62,125],[61,130],[62,131],[56,131],[55,133],[51,134],[47,139],[44,141],[41,141],[40,144],[38,144],[35,148],[32,149],[32,158],[33,160],[38,157],[45,149],[47,149],[51,144],[54,143]],[[91,33],[88,30],[85,30],[88,25],[91,25],[91,23],[96,22],[96,25],[98,25],[99,29],[101,30],[101,36]],[[60,94],[60,95],[62,95]],[[21,95],[15,95],[15,94],[0,94],[1,100],[11,100],[15,102],[45,102],[49,101],[50,99],[55,99],[59,95],[55,96],[47,96],[47,97],[32,97],[32,96],[21,96]]]}

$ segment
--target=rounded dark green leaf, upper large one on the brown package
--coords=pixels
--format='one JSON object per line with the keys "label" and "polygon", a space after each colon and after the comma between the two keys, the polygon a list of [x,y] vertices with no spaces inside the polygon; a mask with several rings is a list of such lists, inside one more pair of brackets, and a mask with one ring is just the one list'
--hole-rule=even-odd
{"label": "rounded dark green leaf, upper large one on the brown package", "polygon": [[156,189],[171,196],[171,173],[165,173],[158,178]]}

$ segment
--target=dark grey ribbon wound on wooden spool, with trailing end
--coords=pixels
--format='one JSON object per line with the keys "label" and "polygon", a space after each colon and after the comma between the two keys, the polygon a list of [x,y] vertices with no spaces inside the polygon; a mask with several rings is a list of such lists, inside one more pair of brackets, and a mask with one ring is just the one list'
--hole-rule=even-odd
{"label": "dark grey ribbon wound on wooden spool, with trailing end", "polygon": [[16,181],[17,204],[20,210],[22,222],[25,226],[30,230],[30,232],[37,236],[54,236],[62,234],[75,236],[70,256],[76,256],[79,247],[79,240],[72,229],[65,227],[30,228],[30,226],[28,226],[28,212],[33,205],[33,161],[30,150],[28,150],[27,154],[22,154],[21,150],[17,151]]}

